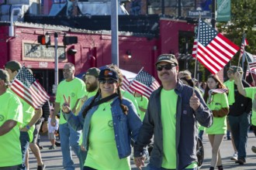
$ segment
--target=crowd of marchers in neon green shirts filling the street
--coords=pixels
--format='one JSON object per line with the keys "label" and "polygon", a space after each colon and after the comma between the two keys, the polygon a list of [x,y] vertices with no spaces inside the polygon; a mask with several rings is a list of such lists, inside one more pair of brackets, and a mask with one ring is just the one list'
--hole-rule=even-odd
{"label": "crowd of marchers in neon green shirts filling the street", "polygon": [[54,107],[47,101],[40,109],[10,89],[21,67],[9,61],[0,70],[0,148],[6,153],[0,155],[0,170],[28,170],[28,148],[37,169],[46,169],[38,144],[40,128],[48,131],[49,149],[56,148],[59,134],[65,170],[74,170],[72,151],[81,170],[130,169],[130,156],[139,169],[150,159],[149,170],[196,170],[195,149],[204,131],[212,146],[209,169],[222,170],[225,134],[231,134],[231,158],[239,165],[246,163],[248,129],[256,135],[256,87],[242,80],[239,66],[230,66],[226,82],[209,75],[197,87],[188,70],[179,70],[174,55],[162,54],[155,64],[161,87],[148,99],[121,88],[123,74],[116,65],[89,68],[79,79],[74,64],[66,63]]}

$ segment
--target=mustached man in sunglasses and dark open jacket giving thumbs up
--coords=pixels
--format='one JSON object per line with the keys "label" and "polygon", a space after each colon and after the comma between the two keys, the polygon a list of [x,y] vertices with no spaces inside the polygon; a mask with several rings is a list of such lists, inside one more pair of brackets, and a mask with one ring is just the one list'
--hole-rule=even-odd
{"label": "mustached man in sunglasses and dark open jacket giving thumbs up", "polygon": [[134,145],[134,162],[144,165],[142,151],[154,134],[149,170],[197,170],[197,123],[213,124],[213,114],[200,94],[178,80],[178,60],[172,54],[158,56],[157,76],[162,86],[150,95],[143,125]]}

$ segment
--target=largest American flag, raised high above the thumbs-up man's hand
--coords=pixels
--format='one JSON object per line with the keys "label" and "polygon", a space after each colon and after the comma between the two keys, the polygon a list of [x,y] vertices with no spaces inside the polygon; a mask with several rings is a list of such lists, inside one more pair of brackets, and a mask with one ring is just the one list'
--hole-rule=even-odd
{"label": "largest American flag, raised high above the thumbs-up man's hand", "polygon": [[213,74],[218,73],[237,53],[239,47],[206,22],[199,22],[199,40],[195,39],[192,56]]}

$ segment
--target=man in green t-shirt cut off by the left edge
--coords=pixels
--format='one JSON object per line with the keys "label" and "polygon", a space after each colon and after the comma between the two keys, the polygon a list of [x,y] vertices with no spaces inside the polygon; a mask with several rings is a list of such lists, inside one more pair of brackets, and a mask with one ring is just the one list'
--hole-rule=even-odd
{"label": "man in green t-shirt cut off by the left edge", "polygon": [[0,70],[0,169],[16,170],[22,164],[19,128],[22,124],[22,104],[8,90],[9,74]]}

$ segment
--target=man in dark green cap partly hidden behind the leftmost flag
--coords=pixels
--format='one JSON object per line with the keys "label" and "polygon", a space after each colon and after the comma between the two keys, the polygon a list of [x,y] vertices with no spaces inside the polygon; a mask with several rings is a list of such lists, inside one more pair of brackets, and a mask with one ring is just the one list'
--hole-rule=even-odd
{"label": "man in dark green cap partly hidden behind the leftmost flag", "polygon": [[[10,80],[12,81],[15,76],[18,74],[19,70],[22,68],[21,64],[15,60],[5,63],[5,70],[9,73]],[[12,90],[10,90],[12,91]],[[14,92],[12,92],[14,93]],[[40,119],[43,114],[42,108],[34,109],[25,100],[19,97],[19,100],[22,103],[22,126],[20,128],[20,137],[21,150],[22,150],[22,167],[21,169],[26,170],[26,152],[29,148],[29,142],[33,140],[33,131],[35,129],[34,124]],[[38,148],[39,150],[39,148]],[[44,166],[43,168],[44,169]]]}

